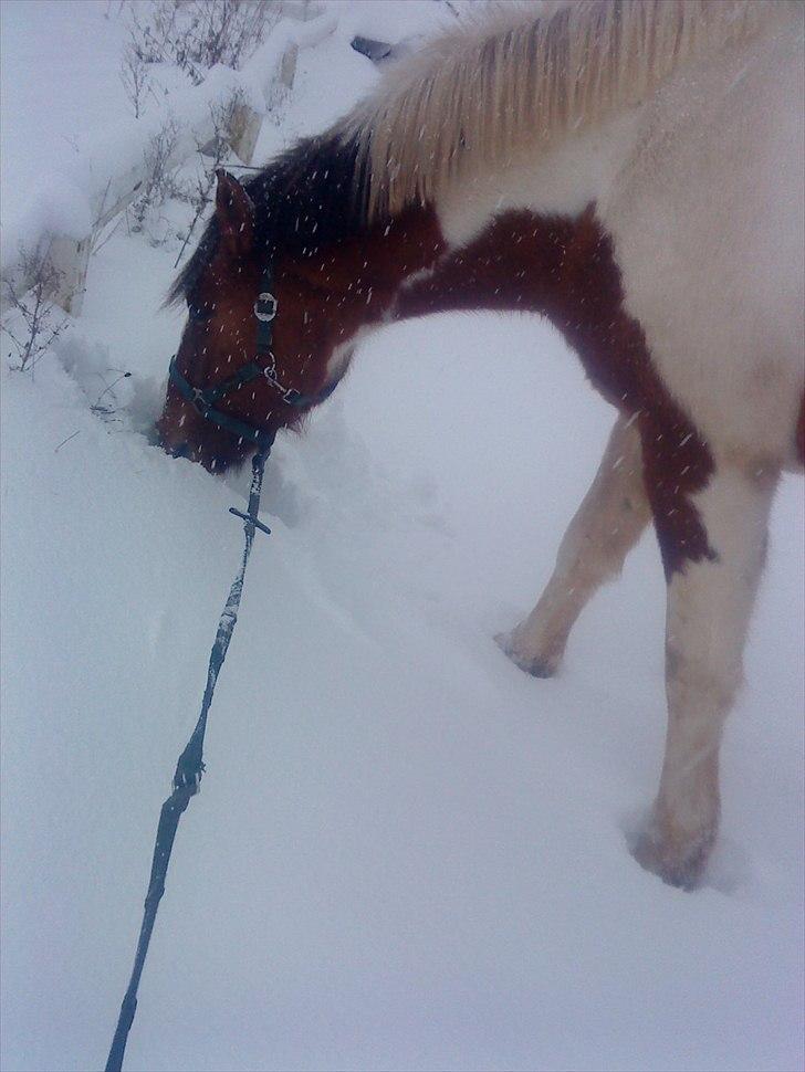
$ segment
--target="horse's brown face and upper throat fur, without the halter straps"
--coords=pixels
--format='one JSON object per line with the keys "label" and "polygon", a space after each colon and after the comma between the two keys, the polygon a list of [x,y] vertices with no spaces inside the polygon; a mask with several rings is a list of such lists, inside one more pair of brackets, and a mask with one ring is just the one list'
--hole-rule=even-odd
{"label": "horse's brown face and upper throat fur, without the halter straps", "polygon": [[[222,383],[243,365],[258,361],[254,302],[265,267],[254,242],[254,209],[248,193],[224,171],[216,193],[218,245],[188,295],[192,311],[177,354],[185,380],[199,390]],[[443,250],[432,211],[407,210],[394,223],[378,221],[335,244],[297,255],[279,254],[272,264],[276,317],[272,351],[284,388],[315,397],[338,375],[358,329],[389,309],[402,280],[429,267]],[[338,357],[339,369],[328,370]],[[273,432],[300,421],[262,376],[227,392],[216,409],[253,428]],[[247,459],[253,442],[239,439],[201,417],[170,382],[157,431],[170,453],[220,473]]]}

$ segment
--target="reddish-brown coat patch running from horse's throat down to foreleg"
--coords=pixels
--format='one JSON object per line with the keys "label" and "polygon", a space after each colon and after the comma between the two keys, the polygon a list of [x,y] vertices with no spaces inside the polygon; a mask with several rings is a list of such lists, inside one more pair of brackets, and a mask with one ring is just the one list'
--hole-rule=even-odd
{"label": "reddish-brown coat patch running from horse's throat down to foreleg", "polygon": [[642,328],[624,309],[613,243],[593,208],[576,218],[498,217],[427,278],[405,287],[396,315],[479,308],[546,316],[579,355],[590,382],[638,421],[666,575],[686,561],[714,558],[691,500],[713,472],[712,455],[660,380]]}

